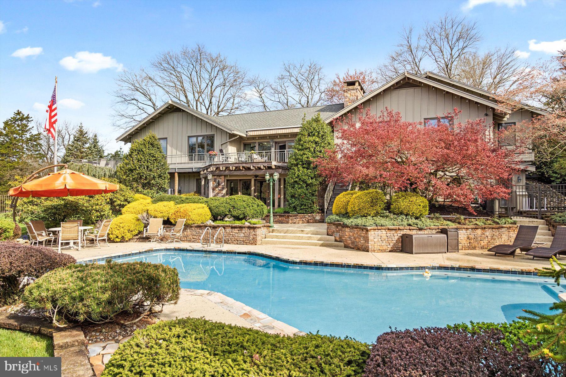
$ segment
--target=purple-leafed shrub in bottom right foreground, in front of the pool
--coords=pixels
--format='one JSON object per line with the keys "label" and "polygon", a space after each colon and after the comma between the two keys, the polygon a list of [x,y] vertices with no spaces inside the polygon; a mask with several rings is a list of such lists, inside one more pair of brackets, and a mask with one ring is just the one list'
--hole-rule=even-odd
{"label": "purple-leafed shrub in bottom right foreground, in front of the pool", "polygon": [[499,330],[469,333],[445,327],[390,331],[372,345],[365,377],[550,377],[550,361],[529,357],[526,345],[508,351]]}

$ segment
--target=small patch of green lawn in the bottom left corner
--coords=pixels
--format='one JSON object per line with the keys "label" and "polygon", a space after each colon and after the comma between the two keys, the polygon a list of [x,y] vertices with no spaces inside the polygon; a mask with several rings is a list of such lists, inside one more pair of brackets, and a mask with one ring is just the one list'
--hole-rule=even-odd
{"label": "small patch of green lawn in the bottom left corner", "polygon": [[0,328],[0,357],[52,357],[53,339]]}

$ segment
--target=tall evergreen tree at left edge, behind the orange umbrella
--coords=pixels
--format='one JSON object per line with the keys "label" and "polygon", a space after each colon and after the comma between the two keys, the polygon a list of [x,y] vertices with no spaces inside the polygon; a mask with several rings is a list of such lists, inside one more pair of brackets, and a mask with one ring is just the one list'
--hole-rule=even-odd
{"label": "tall evergreen tree at left edge, behind the orange umbrella", "polygon": [[5,192],[15,175],[37,170],[41,152],[39,133],[32,131],[33,119],[22,111],[14,112],[0,129],[0,191]]}

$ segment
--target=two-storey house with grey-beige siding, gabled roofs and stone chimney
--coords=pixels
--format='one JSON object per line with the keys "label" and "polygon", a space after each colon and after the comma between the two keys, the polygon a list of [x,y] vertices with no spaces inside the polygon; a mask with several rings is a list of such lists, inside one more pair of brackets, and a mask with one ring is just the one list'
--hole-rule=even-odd
{"label": "two-storey house with grey-beige siding, gabled roofs and stone chimney", "polygon": [[[267,203],[269,188],[264,176],[277,172],[280,179],[274,198],[278,207],[285,204],[287,162],[303,116],[311,118],[320,112],[325,122],[331,123],[348,114],[357,117],[358,106],[362,105],[374,114],[389,107],[400,111],[405,120],[434,125],[437,115],[457,107],[462,111],[461,120],[484,118],[486,124],[494,124],[495,132],[544,114],[529,106],[506,111],[492,93],[432,72],[420,76],[402,73],[370,93],[358,80],[346,81],[344,94],[345,102],[335,105],[225,116],[210,116],[168,101],[117,140],[127,144],[155,133],[169,162],[170,192],[174,193],[243,194]],[[534,170],[531,151],[519,158],[524,170],[513,177],[513,184],[524,183],[525,173]]]}

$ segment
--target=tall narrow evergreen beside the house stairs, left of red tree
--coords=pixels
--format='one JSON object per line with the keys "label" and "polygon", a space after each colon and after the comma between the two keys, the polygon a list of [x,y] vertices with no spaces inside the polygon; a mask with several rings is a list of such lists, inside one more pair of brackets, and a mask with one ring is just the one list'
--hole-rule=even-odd
{"label": "tall narrow evergreen beside the house stairs, left of red tree", "polygon": [[320,211],[318,192],[323,178],[314,166],[314,160],[322,157],[325,150],[334,145],[332,129],[320,117],[320,113],[306,120],[303,117],[301,131],[297,135],[293,153],[289,156],[289,174],[285,180],[288,206],[297,213]]}

